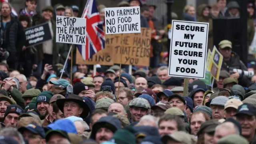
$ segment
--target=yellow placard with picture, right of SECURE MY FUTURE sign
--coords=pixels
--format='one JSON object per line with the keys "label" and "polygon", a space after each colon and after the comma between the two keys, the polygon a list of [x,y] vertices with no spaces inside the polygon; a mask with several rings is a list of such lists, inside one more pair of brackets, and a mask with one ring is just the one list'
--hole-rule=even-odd
{"label": "yellow placard with picture, right of SECURE MY FUTURE sign", "polygon": [[212,56],[211,56],[208,71],[211,72],[212,76],[217,81],[219,80],[219,76],[220,76],[222,60],[223,60],[222,54],[220,54],[220,52],[217,50],[216,46],[214,46],[214,48],[212,50]]}

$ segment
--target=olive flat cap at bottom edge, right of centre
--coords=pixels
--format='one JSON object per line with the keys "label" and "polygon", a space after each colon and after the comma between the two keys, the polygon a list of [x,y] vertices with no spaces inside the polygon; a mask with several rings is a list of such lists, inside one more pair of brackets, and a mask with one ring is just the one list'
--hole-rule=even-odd
{"label": "olive flat cap at bottom edge, right of centre", "polygon": [[164,142],[164,144],[166,144],[168,142],[168,140],[170,140],[170,139],[180,142],[182,144],[196,144],[196,142],[197,142],[195,136],[192,136],[183,131],[177,131],[172,134],[164,135],[162,137],[162,142]]}

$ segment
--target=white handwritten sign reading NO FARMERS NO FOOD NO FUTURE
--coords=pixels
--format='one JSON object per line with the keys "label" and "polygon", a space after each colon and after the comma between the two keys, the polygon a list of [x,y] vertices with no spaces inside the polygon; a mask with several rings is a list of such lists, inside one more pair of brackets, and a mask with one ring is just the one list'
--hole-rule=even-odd
{"label": "white handwritten sign reading NO FARMERS NO FOOD NO FUTURE", "polygon": [[140,33],[140,7],[105,8],[105,34]]}

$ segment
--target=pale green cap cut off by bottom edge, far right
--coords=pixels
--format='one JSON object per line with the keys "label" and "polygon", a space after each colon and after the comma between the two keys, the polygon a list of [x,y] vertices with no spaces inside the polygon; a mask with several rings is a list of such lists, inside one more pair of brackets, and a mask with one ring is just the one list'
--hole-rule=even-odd
{"label": "pale green cap cut off by bottom edge, far right", "polygon": [[249,144],[249,142],[238,134],[230,134],[218,140],[217,144]]}

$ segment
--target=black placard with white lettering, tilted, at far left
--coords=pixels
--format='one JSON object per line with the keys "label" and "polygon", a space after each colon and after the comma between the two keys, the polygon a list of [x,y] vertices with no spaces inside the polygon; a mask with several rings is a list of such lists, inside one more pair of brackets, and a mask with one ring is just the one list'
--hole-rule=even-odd
{"label": "black placard with white lettering, tilted, at far left", "polygon": [[42,42],[45,42],[47,40],[52,40],[52,34],[48,22],[26,28],[25,34],[27,47],[41,44]]}

